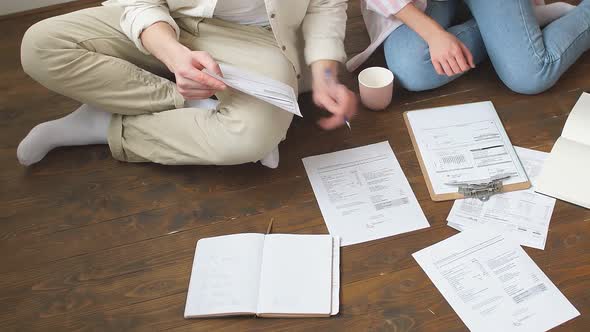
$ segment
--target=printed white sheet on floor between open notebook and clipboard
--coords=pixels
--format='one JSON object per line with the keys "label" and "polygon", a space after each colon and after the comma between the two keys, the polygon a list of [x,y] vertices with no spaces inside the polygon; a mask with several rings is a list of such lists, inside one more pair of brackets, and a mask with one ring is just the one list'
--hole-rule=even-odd
{"label": "printed white sheet on floor between open notebook and clipboard", "polygon": [[388,142],[303,164],[328,230],[343,246],[430,226]]}

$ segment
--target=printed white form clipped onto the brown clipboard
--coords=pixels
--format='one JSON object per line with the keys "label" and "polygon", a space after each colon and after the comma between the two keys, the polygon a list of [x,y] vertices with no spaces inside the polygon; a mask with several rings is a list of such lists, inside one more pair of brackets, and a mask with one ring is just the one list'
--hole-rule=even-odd
{"label": "printed white form clipped onto the brown clipboard", "polygon": [[465,198],[460,189],[472,184],[530,188],[491,102],[410,111],[404,119],[432,200]]}

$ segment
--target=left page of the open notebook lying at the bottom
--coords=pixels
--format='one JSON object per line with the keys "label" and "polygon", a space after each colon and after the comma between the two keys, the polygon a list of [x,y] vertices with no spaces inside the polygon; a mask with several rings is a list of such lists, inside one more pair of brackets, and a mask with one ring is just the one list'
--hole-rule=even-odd
{"label": "left page of the open notebook lying at the bottom", "polygon": [[255,314],[264,234],[197,242],[184,317]]}

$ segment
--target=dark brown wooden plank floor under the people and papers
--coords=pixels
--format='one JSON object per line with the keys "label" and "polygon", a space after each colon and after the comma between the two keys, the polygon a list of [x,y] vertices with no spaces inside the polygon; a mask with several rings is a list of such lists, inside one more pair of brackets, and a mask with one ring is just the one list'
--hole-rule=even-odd
{"label": "dark brown wooden plank floor under the people and papers", "polygon": [[[347,48],[367,44],[352,1]],[[387,112],[362,110],[346,129],[315,125],[310,96],[281,149],[281,166],[167,167],[113,160],[106,146],[58,149],[21,167],[16,146],[37,123],[78,104],[21,70],[24,31],[82,5],[0,19],[0,330],[464,331],[411,254],[456,232],[451,202],[429,199],[402,112],[491,100],[515,145],[550,151],[581,92],[590,89],[590,53],[550,91],[510,92],[489,63],[433,92],[395,91]],[[383,65],[382,56],[371,64]],[[354,76],[347,81],[351,87]],[[428,229],[342,249],[340,315],[331,319],[183,319],[195,243],[238,232],[327,233],[301,158],[388,140],[431,223]],[[557,202],[545,250],[525,248],[590,326],[590,211]],[[548,303],[548,306],[551,304]]]}

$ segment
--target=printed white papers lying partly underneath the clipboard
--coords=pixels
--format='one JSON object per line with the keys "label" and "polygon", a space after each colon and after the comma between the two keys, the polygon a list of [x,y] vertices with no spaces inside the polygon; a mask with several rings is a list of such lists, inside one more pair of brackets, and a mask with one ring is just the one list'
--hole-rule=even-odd
{"label": "printed white papers lying partly underneath the clipboard", "polygon": [[555,199],[537,194],[535,180],[548,153],[515,147],[533,187],[493,195],[487,202],[468,198],[456,200],[447,217],[448,225],[463,231],[485,224],[512,233],[523,246],[544,249]]}

